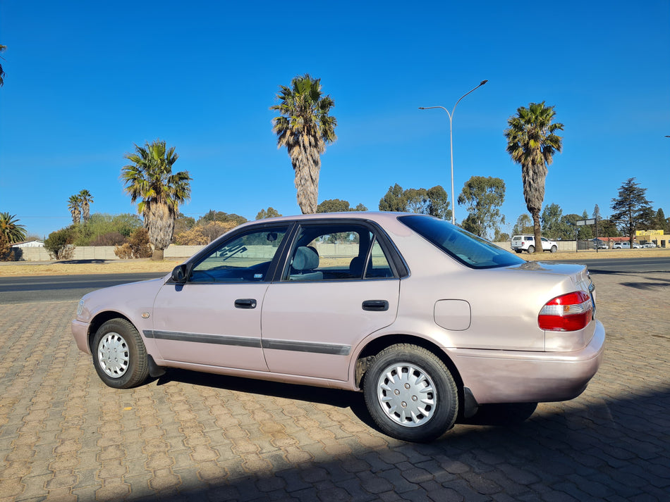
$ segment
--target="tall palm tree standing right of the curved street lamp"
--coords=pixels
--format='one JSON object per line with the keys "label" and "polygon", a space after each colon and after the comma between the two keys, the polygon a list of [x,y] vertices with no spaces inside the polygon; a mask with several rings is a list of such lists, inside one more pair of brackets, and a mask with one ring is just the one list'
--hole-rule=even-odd
{"label": "tall palm tree standing right of the curved street lamp", "polygon": [[[552,164],[554,153],[560,152],[563,139],[555,133],[563,130],[563,124],[552,123],[553,106],[530,103],[528,108],[520,106],[516,115],[507,120],[507,152],[512,160],[521,165],[523,197],[532,216],[535,242],[540,242],[540,210],[544,201],[544,180],[547,167]],[[535,246],[535,253],[542,253],[542,246]]]}

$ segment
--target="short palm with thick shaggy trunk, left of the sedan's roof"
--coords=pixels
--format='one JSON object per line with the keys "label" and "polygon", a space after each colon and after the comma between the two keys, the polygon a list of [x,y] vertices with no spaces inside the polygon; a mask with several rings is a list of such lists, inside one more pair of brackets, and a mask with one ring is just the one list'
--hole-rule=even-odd
{"label": "short palm with thick shaggy trunk, left of the sedan's roof", "polygon": [[126,153],[125,158],[132,163],[121,169],[126,193],[133,202],[140,201],[138,213],[154,246],[152,260],[162,260],[163,250],[172,241],[178,208],[190,199],[191,177],[188,171],[172,174],[178,155],[159,139],[144,147],[135,145],[135,153]]}

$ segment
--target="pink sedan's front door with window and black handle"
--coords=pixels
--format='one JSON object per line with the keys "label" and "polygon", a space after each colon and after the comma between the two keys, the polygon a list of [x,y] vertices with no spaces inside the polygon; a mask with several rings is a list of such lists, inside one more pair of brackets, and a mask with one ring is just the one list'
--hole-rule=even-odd
{"label": "pink sedan's front door with window and black handle", "polygon": [[184,284],[168,282],[154,301],[154,338],[162,359],[267,371],[261,310],[287,227],[233,235],[194,261]]}

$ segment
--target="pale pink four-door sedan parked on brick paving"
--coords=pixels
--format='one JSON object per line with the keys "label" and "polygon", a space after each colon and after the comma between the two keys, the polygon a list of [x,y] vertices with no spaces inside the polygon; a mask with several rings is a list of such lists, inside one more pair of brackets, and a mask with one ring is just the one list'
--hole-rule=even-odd
{"label": "pale pink four-door sedan parked on brick paving", "polygon": [[109,387],[183,368],[362,391],[384,433],[430,441],[482,405],[581,394],[605,338],[594,289],[585,265],[430,216],[300,215],[85,295],[72,332]]}

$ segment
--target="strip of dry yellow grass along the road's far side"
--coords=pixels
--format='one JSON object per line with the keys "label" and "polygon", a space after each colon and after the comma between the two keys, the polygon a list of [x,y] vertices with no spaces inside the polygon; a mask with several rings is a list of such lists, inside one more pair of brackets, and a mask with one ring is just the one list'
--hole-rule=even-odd
{"label": "strip of dry yellow grass along the road's far side", "polygon": [[[647,258],[670,256],[670,249],[601,249],[597,253],[593,250],[563,253],[528,254],[519,256],[525,260],[592,260],[595,258]],[[183,259],[151,261],[140,260],[113,260],[102,263],[0,263],[0,277],[32,276],[32,275],[83,275],[83,274],[129,274],[136,272],[170,272]]]}

